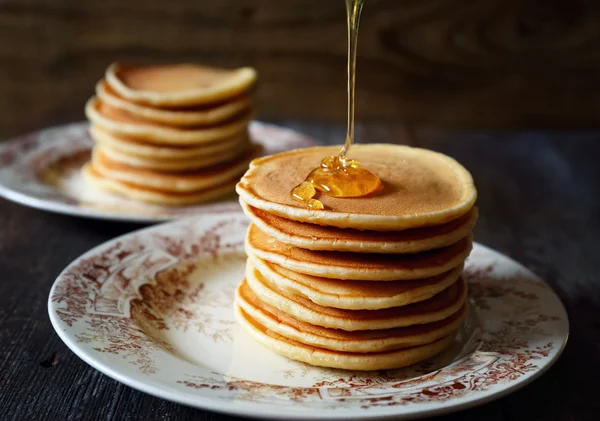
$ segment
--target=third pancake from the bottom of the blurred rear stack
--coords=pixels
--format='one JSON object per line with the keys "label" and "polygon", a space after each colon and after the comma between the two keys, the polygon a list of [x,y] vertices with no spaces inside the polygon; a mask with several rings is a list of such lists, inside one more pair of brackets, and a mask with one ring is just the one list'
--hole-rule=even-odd
{"label": "third pancake from the bottom of the blurred rear stack", "polygon": [[124,164],[130,167],[141,168],[151,171],[193,171],[203,168],[209,168],[227,161],[234,160],[240,155],[244,155],[251,148],[248,144],[245,147],[230,149],[228,151],[219,152],[213,155],[198,156],[187,159],[152,159],[141,158],[135,155],[123,153],[118,149],[114,149],[104,142],[96,143],[96,150],[108,157],[111,161],[119,164]]}

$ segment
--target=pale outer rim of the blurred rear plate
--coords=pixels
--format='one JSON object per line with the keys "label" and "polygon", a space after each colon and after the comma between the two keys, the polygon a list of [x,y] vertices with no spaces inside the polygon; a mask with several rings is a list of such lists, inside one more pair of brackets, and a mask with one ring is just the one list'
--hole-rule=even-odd
{"label": "pale outer rim of the blurred rear plate", "polygon": [[[253,120],[251,123],[252,127],[265,129],[265,130],[277,130],[281,134],[286,134],[290,137],[293,137],[296,142],[297,147],[305,147],[305,146],[315,146],[317,142],[311,137],[302,134],[292,128],[288,128],[285,126],[280,126],[277,124],[266,123],[259,120]],[[4,151],[10,150],[10,148],[18,148],[21,144],[27,144],[27,142],[31,142],[34,144],[33,153],[36,152],[36,148],[40,149],[42,146],[39,144],[39,139],[48,133],[52,133],[54,131],[67,131],[67,130],[78,130],[83,129],[89,126],[89,122],[82,120],[76,121],[66,124],[60,124],[56,126],[45,127],[40,130],[30,131],[14,138],[5,140],[0,142],[0,172],[2,170],[6,170],[10,168],[12,164],[4,165],[1,160],[1,154]],[[66,142],[66,140],[62,140]],[[56,143],[57,141],[54,140]],[[31,151],[26,150],[27,154],[31,154]],[[77,153],[77,151],[74,151]],[[15,174],[15,170],[11,170],[13,175]],[[58,195],[64,197],[64,201],[59,201],[53,198],[45,198],[40,197],[39,195],[35,195],[28,192],[23,192],[15,189],[13,186],[6,185],[2,178],[0,177],[0,197],[9,200],[13,203],[17,203],[22,206],[27,206],[33,209],[38,209],[42,211],[47,211],[51,213],[57,213],[62,215],[75,216],[79,218],[88,218],[88,219],[96,219],[96,220],[112,220],[112,221],[120,221],[120,222],[131,222],[131,223],[140,223],[140,224],[148,224],[148,223],[157,223],[157,222],[168,222],[175,219],[190,217],[190,214],[177,214],[177,209],[183,208],[173,208],[173,214],[167,214],[166,211],[164,214],[135,214],[135,213],[127,213],[127,212],[118,212],[112,210],[98,210],[90,207],[85,207],[75,202],[73,199],[65,196],[60,193],[58,190],[53,189],[48,184],[44,183],[41,180],[35,180],[34,183],[39,186],[43,186],[43,188],[48,189],[49,191],[56,192]],[[201,207],[202,214],[218,214],[218,213],[231,213],[238,212],[239,205],[237,200],[227,200],[222,202],[208,202],[205,204],[197,205]]]}

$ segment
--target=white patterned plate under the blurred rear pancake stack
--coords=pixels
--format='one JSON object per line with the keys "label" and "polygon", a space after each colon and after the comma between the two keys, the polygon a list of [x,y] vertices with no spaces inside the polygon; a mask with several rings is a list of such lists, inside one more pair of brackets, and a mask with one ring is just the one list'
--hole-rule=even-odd
{"label": "white patterned plate under the blurred rear pancake stack", "polygon": [[[86,186],[81,166],[90,157],[89,124],[79,122],[0,143],[0,196],[46,211],[88,218],[156,222],[208,213],[237,212],[237,196],[196,206],[169,207],[135,202]],[[252,139],[273,154],[314,146],[298,132],[252,122]]]}

